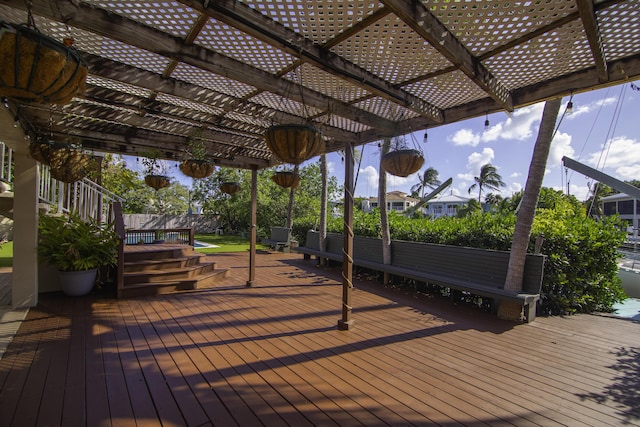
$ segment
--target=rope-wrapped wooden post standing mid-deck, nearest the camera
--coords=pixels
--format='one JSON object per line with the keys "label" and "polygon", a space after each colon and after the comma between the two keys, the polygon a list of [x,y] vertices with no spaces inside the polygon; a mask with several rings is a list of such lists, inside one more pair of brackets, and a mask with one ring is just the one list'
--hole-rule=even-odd
{"label": "rope-wrapped wooden post standing mid-deck, nearest the camera", "polygon": [[353,327],[351,297],[353,291],[353,146],[345,144],[344,156],[344,244],[342,259],[342,319],[338,329]]}

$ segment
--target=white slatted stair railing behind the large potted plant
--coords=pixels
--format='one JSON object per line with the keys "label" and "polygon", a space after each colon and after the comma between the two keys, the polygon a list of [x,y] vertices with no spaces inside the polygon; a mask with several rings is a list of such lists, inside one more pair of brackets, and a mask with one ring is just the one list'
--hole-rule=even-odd
{"label": "white slatted stair railing behind the large potted plant", "polygon": [[51,176],[48,166],[38,166],[40,175],[40,202],[54,206],[58,212],[77,212],[82,218],[107,221],[109,205],[124,199],[95,182],[83,178],[71,184],[60,182]]}

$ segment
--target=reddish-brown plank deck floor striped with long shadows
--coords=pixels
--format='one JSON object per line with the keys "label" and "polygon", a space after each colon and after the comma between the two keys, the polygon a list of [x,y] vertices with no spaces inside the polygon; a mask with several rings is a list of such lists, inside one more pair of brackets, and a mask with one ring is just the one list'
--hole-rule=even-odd
{"label": "reddish-brown plank deck floor striped with long shadows", "polygon": [[296,254],[216,256],[218,288],[46,295],[0,360],[0,425],[640,425],[640,324],[515,325]]}

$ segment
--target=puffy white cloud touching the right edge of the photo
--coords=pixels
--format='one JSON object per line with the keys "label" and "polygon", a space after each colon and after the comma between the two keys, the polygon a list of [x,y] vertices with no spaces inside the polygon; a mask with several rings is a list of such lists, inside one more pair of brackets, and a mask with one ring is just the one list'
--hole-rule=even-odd
{"label": "puffy white cloud touching the right edge of the photo", "polygon": [[587,163],[600,170],[602,165],[598,163],[601,161],[601,157],[606,159],[605,167],[614,171],[612,175],[615,178],[621,180],[638,178],[640,141],[617,136],[609,140],[608,148],[605,148],[604,154],[601,152],[591,153]]}

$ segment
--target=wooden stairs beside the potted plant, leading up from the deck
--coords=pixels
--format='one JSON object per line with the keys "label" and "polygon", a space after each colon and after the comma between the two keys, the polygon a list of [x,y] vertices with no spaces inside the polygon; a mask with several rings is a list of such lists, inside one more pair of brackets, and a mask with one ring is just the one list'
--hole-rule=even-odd
{"label": "wooden stairs beside the potted plant, leading up from the deck", "polygon": [[213,286],[229,276],[191,246],[133,245],[124,254],[122,297],[159,295]]}

